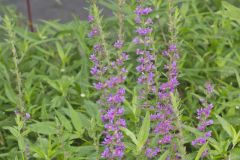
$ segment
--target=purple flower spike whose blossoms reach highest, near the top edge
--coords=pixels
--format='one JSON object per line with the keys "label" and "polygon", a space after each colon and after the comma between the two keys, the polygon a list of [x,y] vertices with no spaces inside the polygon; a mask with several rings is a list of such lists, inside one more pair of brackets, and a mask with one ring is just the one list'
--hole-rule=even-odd
{"label": "purple flower spike whose blossoms reach highest, near the top edge", "polygon": [[[145,23],[148,18],[147,15],[151,12],[152,9],[150,7],[143,7],[141,4],[139,4],[135,10],[136,24],[138,27],[136,29],[137,36],[133,39],[133,42],[139,46],[139,48],[136,49],[136,54],[138,55],[137,62],[139,63],[136,70],[140,74],[138,83],[144,87],[141,94],[145,96],[156,90],[154,86],[155,56],[151,53],[149,46],[152,42],[150,37],[152,28],[150,24]],[[149,41],[146,41],[146,39]]]}

